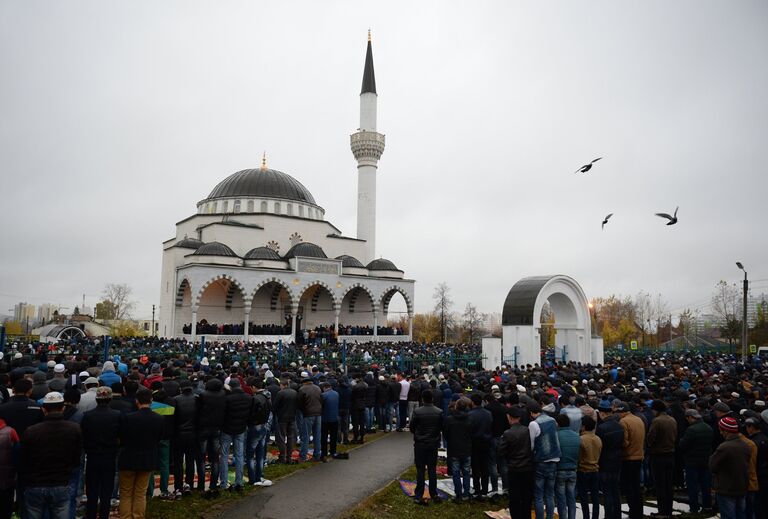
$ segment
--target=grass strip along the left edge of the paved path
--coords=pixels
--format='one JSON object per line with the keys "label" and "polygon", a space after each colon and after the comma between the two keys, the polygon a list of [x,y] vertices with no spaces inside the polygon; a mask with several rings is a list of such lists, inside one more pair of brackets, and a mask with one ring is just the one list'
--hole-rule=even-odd
{"label": "grass strip along the left edge of the paved path", "polygon": [[[368,434],[365,437],[365,443],[378,440],[384,437],[384,433]],[[337,452],[348,452],[362,445],[341,445],[337,447]],[[335,463],[331,460],[329,463]],[[277,480],[295,474],[301,470],[306,470],[315,466],[315,463],[298,463],[296,465],[270,464],[264,469],[264,477],[276,483]],[[230,481],[234,475],[234,468],[230,468]],[[247,476],[246,476],[247,479]],[[241,493],[222,491],[216,499],[205,499],[197,492],[191,496],[176,501],[165,501],[153,498],[147,501],[147,517],[152,519],[197,519],[200,517],[217,517],[227,508],[227,506],[238,499],[249,496],[261,491],[260,487],[246,486]]]}

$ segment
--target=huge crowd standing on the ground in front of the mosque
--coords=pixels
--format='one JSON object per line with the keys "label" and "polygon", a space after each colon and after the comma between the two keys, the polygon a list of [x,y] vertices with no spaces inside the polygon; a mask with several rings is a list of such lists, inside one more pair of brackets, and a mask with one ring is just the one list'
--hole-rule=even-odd
{"label": "huge crowd standing on the ground in front of the mosque", "polygon": [[345,373],[309,362],[281,369],[211,346],[200,360],[166,350],[104,362],[82,345],[6,349],[0,519],[14,500],[22,519],[73,519],[82,501],[86,518],[106,519],[113,499],[121,518],[143,517],[154,474],[161,498],[216,497],[271,485],[263,477],[271,435],[279,463],[295,462],[297,439],[299,462],[324,462],[339,442],[363,443],[376,429],[413,435],[415,495],[428,480],[432,503],[445,447],[455,501],[506,496],[512,518],[533,509],[552,519],[556,508],[575,519],[578,497],[584,517],[602,510],[620,519],[623,499],[639,519],[644,492],[665,518],[682,488],[692,512],[768,512],[768,361],[760,358],[651,353],[485,371],[369,363]]}

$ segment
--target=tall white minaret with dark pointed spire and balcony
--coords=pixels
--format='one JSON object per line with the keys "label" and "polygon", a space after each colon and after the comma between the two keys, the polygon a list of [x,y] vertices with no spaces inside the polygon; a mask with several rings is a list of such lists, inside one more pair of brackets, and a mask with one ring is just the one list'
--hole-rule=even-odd
{"label": "tall white minaret with dark pointed spire and balcony", "polygon": [[357,237],[365,240],[364,264],[376,258],[376,170],[384,153],[384,135],[376,131],[376,77],[373,74],[371,31],[360,90],[360,128],[350,136],[357,160]]}

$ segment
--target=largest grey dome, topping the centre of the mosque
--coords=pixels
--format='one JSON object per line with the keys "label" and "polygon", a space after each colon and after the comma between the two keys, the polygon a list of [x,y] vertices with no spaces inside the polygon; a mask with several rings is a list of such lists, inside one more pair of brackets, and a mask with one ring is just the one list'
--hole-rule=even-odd
{"label": "largest grey dome, topping the centre of the mosque", "polygon": [[213,188],[208,199],[237,196],[284,198],[317,205],[312,193],[292,176],[275,169],[244,169]]}

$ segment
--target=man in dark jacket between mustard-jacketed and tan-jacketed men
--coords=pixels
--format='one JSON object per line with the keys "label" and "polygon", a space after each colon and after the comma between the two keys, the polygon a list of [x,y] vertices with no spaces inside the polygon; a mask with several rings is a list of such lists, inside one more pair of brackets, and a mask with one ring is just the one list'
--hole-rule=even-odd
{"label": "man in dark jacket between mustard-jacketed and tan-jacketed men", "polygon": [[600,461],[598,477],[600,491],[605,502],[605,519],[621,519],[621,458],[624,451],[624,428],[619,423],[619,415],[613,412],[610,404],[599,405],[601,422],[597,426],[600,438]]}

